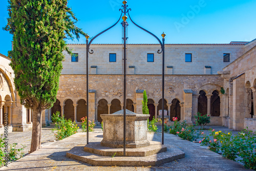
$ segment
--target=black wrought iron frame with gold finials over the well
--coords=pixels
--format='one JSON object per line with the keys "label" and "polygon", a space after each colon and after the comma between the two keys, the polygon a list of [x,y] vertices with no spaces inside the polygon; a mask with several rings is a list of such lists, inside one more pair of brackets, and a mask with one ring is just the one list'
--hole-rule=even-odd
{"label": "black wrought iron frame with gold finials over the well", "polygon": [[[86,92],[86,95],[87,95],[87,103],[89,101],[89,73],[88,73],[88,70],[89,70],[89,63],[88,63],[88,59],[89,59],[89,53],[90,54],[93,54],[93,50],[90,50],[90,45],[92,44],[92,41],[97,38],[99,35],[103,34],[104,32],[110,30],[111,28],[113,28],[114,26],[116,26],[120,19],[122,18],[123,19],[123,22],[121,23],[122,24],[122,27],[123,27],[123,109],[126,109],[126,41],[127,41],[127,38],[126,37],[126,28],[129,26],[129,24],[126,22],[127,20],[127,16],[126,14],[128,14],[131,22],[137,26],[138,28],[142,29],[143,31],[151,34],[153,37],[155,37],[158,41],[159,41],[159,44],[161,45],[161,50],[159,49],[157,51],[157,53],[161,54],[162,53],[162,111],[164,110],[164,40],[165,40],[165,35],[166,34],[161,34],[162,36],[162,41],[153,33],[151,33],[150,31],[147,31],[146,29],[138,26],[136,23],[133,22],[130,14],[129,14],[129,11],[131,11],[131,9],[129,8],[128,9],[128,6],[126,5],[127,4],[127,1],[123,1],[122,2],[123,5],[122,5],[122,9],[119,9],[119,11],[121,11],[121,15],[118,19],[118,21],[111,27],[109,27],[108,29],[105,29],[104,31],[100,32],[99,34],[97,34],[96,36],[94,36],[90,42],[89,42],[89,38],[90,36],[87,35],[86,36],[86,87],[87,87],[87,92]],[[162,144],[164,144],[164,112],[162,112]],[[87,105],[87,144],[89,144],[89,103]],[[125,114],[125,110],[123,110],[123,155],[125,156],[125,145],[126,145],[126,131],[125,131],[125,127],[126,127],[126,114]]]}

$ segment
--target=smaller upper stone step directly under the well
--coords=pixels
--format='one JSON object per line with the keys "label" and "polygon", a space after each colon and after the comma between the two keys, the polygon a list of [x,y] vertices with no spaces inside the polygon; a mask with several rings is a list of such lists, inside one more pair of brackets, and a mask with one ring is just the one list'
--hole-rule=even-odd
{"label": "smaller upper stone step directly under the well", "polygon": [[[123,156],[123,148],[111,148],[101,146],[100,142],[91,142],[84,146],[83,150],[101,156]],[[126,156],[143,157],[166,152],[167,148],[161,142],[150,141],[150,145],[140,148],[126,148]]]}

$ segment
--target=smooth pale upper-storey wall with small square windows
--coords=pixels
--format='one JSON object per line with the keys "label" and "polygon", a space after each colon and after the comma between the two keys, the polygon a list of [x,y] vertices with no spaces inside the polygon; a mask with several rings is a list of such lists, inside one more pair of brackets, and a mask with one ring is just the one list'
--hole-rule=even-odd
{"label": "smooth pale upper-storey wall with small square windows", "polygon": [[[73,53],[78,53],[78,62],[72,62],[71,56],[63,52],[62,74],[86,74],[86,45],[68,45]],[[122,74],[122,45],[91,45],[94,51],[89,54],[89,74]],[[128,74],[161,74],[162,54],[157,51],[160,45],[127,45]],[[166,74],[217,74],[244,52],[244,45],[165,45]],[[116,53],[116,62],[109,61],[109,54]],[[154,62],[147,62],[147,53],[154,53]],[[185,62],[185,54],[192,54],[192,61]],[[223,53],[230,53],[230,62],[223,62]],[[97,66],[97,68],[91,68]],[[129,68],[131,66],[131,68]],[[205,66],[210,71],[205,72]],[[95,71],[96,70],[96,71]]]}

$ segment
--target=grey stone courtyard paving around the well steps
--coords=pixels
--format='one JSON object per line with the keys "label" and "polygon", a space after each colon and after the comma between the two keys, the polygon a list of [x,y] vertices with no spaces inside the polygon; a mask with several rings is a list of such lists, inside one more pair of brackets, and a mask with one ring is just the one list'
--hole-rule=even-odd
{"label": "grey stone courtyard paving around the well steps", "polygon": [[[222,126],[211,127],[218,131],[227,130],[226,127]],[[48,142],[53,139],[49,133],[49,127],[42,130],[42,137],[44,137],[42,139],[45,143],[38,151],[10,163],[8,167],[2,167],[0,170],[249,170],[237,162],[199,146],[198,143],[182,140],[167,133],[165,133],[165,145],[167,147],[175,145],[185,153],[185,158],[154,167],[91,166],[66,157],[67,151],[74,146],[86,144],[86,133],[77,133],[61,141]],[[17,136],[19,136],[18,139]],[[100,126],[96,126],[95,132],[89,133],[89,141],[100,141],[102,137]],[[9,139],[10,142],[14,140],[27,142],[31,139],[31,132],[10,133]],[[161,133],[149,132],[148,140],[161,141]]]}

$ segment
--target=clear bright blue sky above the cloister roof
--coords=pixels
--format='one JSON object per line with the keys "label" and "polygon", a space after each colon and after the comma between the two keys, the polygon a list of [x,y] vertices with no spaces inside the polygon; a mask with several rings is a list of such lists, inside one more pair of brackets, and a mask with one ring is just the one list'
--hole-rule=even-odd
{"label": "clear bright blue sky above the cloister roof", "polygon": [[[0,27],[7,24],[7,0],[0,5]],[[76,14],[77,26],[90,36],[95,36],[117,22],[122,0],[78,1],[68,4]],[[166,44],[229,43],[251,41],[256,38],[255,0],[128,0],[130,15],[135,23],[161,38],[166,33]],[[129,44],[157,44],[151,35],[134,26],[128,19]],[[121,24],[97,37],[94,44],[119,44]],[[0,29],[0,53],[11,50],[12,35]],[[84,44],[85,38],[68,40],[68,43]]]}

